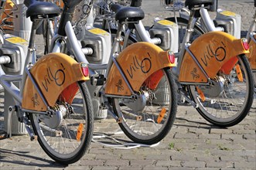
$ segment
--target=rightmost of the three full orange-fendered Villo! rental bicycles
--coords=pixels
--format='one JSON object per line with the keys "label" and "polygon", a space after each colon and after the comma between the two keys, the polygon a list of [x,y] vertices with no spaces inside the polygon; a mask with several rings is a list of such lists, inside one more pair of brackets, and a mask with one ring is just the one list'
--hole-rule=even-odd
{"label": "rightmost of the three full orange-fendered Villo! rental bicycles", "polygon": [[[196,107],[202,117],[211,124],[229,127],[241,122],[251,109],[254,100],[254,81],[245,56],[249,53],[246,39],[235,39],[234,36],[217,31],[194,36],[193,30],[196,30],[196,33],[202,30],[196,25],[200,10],[212,5],[212,2],[185,2],[190,11],[189,20],[186,23],[185,35],[181,35],[183,39],[180,39],[182,43],[179,46],[179,53],[176,53],[178,64],[172,72],[177,77],[179,93],[185,99],[183,102],[186,101]],[[123,7],[114,4],[110,8],[118,12]],[[173,24],[163,19],[155,22],[162,26]],[[148,31],[150,32],[150,29]],[[123,49],[127,48],[126,44],[130,44],[129,40],[159,45],[165,42],[165,39],[159,36],[148,36],[141,21],[128,26],[124,36]],[[158,41],[154,42],[154,39]],[[196,50],[199,46],[200,51]]]}

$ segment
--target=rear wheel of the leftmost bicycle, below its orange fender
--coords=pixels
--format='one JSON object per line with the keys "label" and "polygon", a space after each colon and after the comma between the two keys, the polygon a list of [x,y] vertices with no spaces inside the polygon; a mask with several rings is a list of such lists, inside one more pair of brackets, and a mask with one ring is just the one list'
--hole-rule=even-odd
{"label": "rear wheel of the leftmost bicycle, below its orange fender", "polygon": [[76,93],[72,104],[68,104],[68,100],[61,104],[56,102],[55,107],[63,110],[63,120],[57,128],[47,126],[39,115],[30,114],[39,145],[50,158],[64,165],[77,162],[89,148],[93,136],[94,115],[89,90],[82,82],[77,82],[77,87],[79,93]]}

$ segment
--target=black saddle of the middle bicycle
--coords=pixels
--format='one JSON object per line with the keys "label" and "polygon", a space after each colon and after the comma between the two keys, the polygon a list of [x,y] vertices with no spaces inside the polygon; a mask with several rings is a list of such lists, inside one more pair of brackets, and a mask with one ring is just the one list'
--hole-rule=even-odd
{"label": "black saddle of the middle bicycle", "polygon": [[118,4],[112,4],[111,10],[115,13],[115,20],[118,22],[138,22],[144,19],[145,14],[141,8],[126,7]]}

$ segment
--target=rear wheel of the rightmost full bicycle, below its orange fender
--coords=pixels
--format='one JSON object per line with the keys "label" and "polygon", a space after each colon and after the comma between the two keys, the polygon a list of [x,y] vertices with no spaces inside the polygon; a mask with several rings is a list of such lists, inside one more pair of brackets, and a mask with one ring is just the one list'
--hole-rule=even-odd
{"label": "rear wheel of the rightmost full bicycle, below its orange fender", "polygon": [[190,97],[199,106],[196,110],[204,119],[219,127],[230,127],[243,121],[254,100],[254,80],[247,57],[238,56],[237,65],[241,68],[243,79],[238,79],[235,69],[230,72],[230,75],[218,73],[222,76],[222,78],[219,76],[219,79],[225,81],[224,90],[217,97],[205,95],[208,100],[203,101],[195,86],[190,85],[188,88]]}

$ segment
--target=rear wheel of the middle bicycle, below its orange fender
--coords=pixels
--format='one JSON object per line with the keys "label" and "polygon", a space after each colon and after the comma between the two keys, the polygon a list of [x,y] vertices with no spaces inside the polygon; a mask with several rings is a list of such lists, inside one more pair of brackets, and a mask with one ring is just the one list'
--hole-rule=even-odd
{"label": "rear wheel of the middle bicycle, below its orange fender", "polygon": [[[141,87],[141,93],[155,98],[147,100],[145,107],[134,110],[125,104],[131,100],[112,99],[114,113],[121,118],[119,126],[128,138],[137,143],[153,145],[163,138],[172,128],[177,110],[177,87],[170,68],[162,69],[162,80],[155,90]],[[138,104],[140,104],[138,102]],[[135,108],[135,109],[138,109]],[[162,120],[159,118],[162,115]],[[159,118],[159,120],[158,120]]]}

